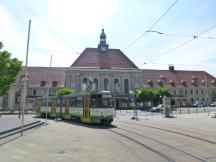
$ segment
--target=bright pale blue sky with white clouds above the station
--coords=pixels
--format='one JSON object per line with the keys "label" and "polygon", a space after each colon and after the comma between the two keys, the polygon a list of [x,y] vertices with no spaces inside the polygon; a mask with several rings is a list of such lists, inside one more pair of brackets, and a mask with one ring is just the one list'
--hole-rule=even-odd
{"label": "bright pale blue sky with white clouds above the station", "polygon": [[[53,66],[68,67],[79,56],[77,53],[86,47],[97,47],[104,27],[109,47],[121,49],[139,68],[168,69],[168,64],[174,64],[177,70],[205,70],[216,76],[216,27],[167,54],[164,53],[192,36],[147,33],[125,48],[174,2],[0,0],[0,41],[13,57],[25,62],[28,20],[31,19],[29,66],[49,66],[52,54]],[[152,30],[199,35],[216,25],[215,8],[214,0],[178,0]]]}

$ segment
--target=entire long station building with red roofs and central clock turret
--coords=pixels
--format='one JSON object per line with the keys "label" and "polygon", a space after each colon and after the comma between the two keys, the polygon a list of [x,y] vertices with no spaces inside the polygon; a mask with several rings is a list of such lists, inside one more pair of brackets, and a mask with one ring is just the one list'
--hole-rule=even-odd
{"label": "entire long station building with red roofs and central clock turret", "polygon": [[[86,48],[68,68],[51,68],[48,84],[48,67],[29,67],[28,107],[37,96],[54,95],[59,87],[69,87],[76,92],[86,91],[93,82],[94,91],[110,91],[117,107],[127,107],[130,92],[137,88],[168,88],[173,106],[191,106],[199,101],[206,104],[216,100],[216,78],[205,71],[139,69],[120,49],[110,49],[102,29],[97,48]],[[22,74],[20,74],[22,75]],[[14,109],[15,94],[19,91],[20,76],[8,95],[0,98],[0,107]],[[33,106],[34,107],[34,106]]]}

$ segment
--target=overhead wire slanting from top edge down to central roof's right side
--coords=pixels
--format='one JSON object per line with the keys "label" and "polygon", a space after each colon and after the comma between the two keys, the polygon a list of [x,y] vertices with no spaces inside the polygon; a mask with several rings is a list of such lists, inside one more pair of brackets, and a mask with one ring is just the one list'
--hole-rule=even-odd
{"label": "overhead wire slanting from top edge down to central roof's right side", "polygon": [[[158,17],[158,19],[148,28],[148,30],[151,30],[151,29],[167,14],[167,12],[168,12],[177,2],[178,2],[178,0],[175,0],[175,2],[172,3],[172,5],[171,5],[168,9],[166,9],[166,11],[165,11],[161,16]],[[148,31],[148,30],[147,30],[147,31]],[[138,42],[138,41],[139,41],[140,39],[142,39],[147,33],[148,33],[148,32],[142,33],[137,39],[135,39],[133,42],[131,42],[130,44],[128,44],[128,45],[123,49],[123,51],[126,50],[126,49],[128,49],[129,47],[131,47],[131,46],[132,46],[133,44],[135,44],[136,42]]]}

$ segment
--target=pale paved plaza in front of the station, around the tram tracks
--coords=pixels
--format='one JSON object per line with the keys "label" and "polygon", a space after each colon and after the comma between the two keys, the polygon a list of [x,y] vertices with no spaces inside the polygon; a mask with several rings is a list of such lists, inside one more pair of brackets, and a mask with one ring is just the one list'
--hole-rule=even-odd
{"label": "pale paved plaza in front of the station, around the tram tracks", "polygon": [[[216,118],[213,118],[212,114],[185,114],[175,116],[175,118],[164,118],[161,115],[155,115],[142,116],[139,120],[131,120],[130,113],[128,115],[120,115],[117,112],[113,125],[108,128],[48,120],[47,125],[28,130],[24,132],[23,136],[15,135],[1,140],[1,161],[167,161],[154,155],[149,150],[141,148],[141,146],[136,146],[132,141],[124,137],[113,135],[110,130],[115,131],[116,128],[123,126],[122,121],[182,132],[216,142]],[[136,127],[133,126],[133,128]],[[142,129],[147,133],[150,128]],[[152,136],[156,136],[158,134],[157,131],[153,131]],[[164,136],[167,136],[167,138],[163,137],[163,141],[167,141],[167,143],[170,142],[170,138],[172,139],[172,144],[195,153],[200,152],[200,156],[208,159],[210,162],[216,161],[216,145],[214,144],[197,143],[194,139],[170,136],[168,133],[164,133]],[[187,144],[184,144],[184,142],[187,142]],[[192,143],[190,144],[190,142]],[[157,147],[160,148],[153,145],[153,148]],[[198,150],[200,147],[205,148],[205,150]]]}

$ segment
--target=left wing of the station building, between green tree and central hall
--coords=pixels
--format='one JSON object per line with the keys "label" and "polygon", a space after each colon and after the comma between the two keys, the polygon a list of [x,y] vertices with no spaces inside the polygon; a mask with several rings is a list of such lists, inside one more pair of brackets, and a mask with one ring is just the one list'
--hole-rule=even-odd
{"label": "left wing of the station building, between green tree and central hall", "polygon": [[[57,89],[64,87],[66,68],[58,67],[28,67],[28,80],[26,92],[26,108],[34,110],[36,97],[55,95]],[[48,81],[48,76],[50,80]],[[23,95],[24,71],[21,71],[10,91],[0,97],[0,107],[3,110],[15,111],[21,107],[21,96]],[[49,88],[49,92],[48,92]]]}

